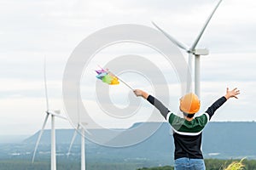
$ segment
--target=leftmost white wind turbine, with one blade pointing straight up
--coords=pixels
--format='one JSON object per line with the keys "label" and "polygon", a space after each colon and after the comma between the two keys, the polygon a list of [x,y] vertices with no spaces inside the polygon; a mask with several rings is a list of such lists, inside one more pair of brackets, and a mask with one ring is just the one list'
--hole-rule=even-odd
{"label": "leftmost white wind turbine, with one blade pointing straight up", "polygon": [[44,127],[46,125],[46,122],[51,116],[51,147],[50,147],[50,169],[51,170],[56,170],[56,149],[55,149],[55,116],[60,117],[62,119],[67,120],[65,116],[60,115],[60,111],[49,111],[49,99],[48,99],[48,91],[47,91],[47,82],[46,82],[46,61],[44,59],[44,92],[45,92],[45,99],[46,99],[46,116],[44,118],[44,124],[43,127],[38,135],[38,140],[36,143],[36,147],[33,153],[32,157],[32,163],[35,160],[35,156],[38,150],[38,144],[40,142],[40,139],[42,137],[42,134],[44,133]]}

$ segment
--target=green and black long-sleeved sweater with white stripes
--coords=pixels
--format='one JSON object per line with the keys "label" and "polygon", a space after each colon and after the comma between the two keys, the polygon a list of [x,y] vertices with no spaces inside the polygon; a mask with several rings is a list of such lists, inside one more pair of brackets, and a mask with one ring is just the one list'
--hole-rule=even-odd
{"label": "green and black long-sleeved sweater with white stripes", "polygon": [[152,95],[148,96],[148,102],[154,105],[162,116],[171,124],[175,145],[174,159],[188,157],[203,159],[201,152],[201,135],[203,128],[210,121],[214,112],[227,100],[224,96],[215,101],[207,111],[195,117],[192,121],[187,121],[180,116],[170,112],[165,105]]}

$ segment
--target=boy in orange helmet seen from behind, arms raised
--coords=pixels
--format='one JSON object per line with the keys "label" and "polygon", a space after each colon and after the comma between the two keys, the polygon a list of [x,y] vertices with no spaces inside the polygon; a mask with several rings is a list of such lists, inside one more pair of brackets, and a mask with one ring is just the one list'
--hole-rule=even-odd
{"label": "boy in orange helmet seen from behind, arms raised", "polygon": [[175,145],[174,169],[205,170],[205,162],[201,152],[201,132],[207,122],[211,120],[214,112],[226,100],[230,98],[237,99],[236,95],[240,94],[240,91],[237,88],[231,91],[227,88],[226,94],[223,97],[215,101],[203,115],[195,118],[195,113],[200,109],[200,100],[195,94],[186,94],[180,99],[179,108],[183,112],[183,118],[170,112],[158,99],[143,92],[143,90],[136,89],[134,94],[137,97],[142,96],[144,99],[147,99],[171,124]]}

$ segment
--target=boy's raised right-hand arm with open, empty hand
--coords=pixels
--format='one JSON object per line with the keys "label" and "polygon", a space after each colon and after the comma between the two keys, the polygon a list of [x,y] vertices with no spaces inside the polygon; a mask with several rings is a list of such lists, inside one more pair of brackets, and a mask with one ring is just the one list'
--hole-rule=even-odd
{"label": "boy's raised right-hand arm with open, empty hand", "polygon": [[233,90],[229,90],[229,88],[227,88],[226,90],[226,94],[221,97],[220,99],[218,99],[217,101],[215,101],[208,109],[207,109],[207,114],[209,115],[209,119],[212,118],[214,112],[216,110],[218,110],[218,108],[223,105],[228,99],[230,98],[236,98],[237,99],[237,95],[240,94],[240,90],[237,90],[237,88],[234,88]]}

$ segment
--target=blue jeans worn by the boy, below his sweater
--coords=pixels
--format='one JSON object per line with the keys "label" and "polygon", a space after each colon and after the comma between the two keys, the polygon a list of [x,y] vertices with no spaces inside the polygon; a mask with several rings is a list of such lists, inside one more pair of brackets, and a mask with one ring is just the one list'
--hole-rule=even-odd
{"label": "blue jeans worn by the boy, below his sweater", "polygon": [[174,162],[174,170],[206,170],[203,159],[178,158]]}

